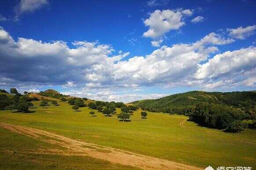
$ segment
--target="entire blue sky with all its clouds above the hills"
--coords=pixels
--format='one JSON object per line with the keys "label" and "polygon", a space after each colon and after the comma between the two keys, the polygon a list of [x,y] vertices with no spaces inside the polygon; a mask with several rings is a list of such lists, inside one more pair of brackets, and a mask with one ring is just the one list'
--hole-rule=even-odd
{"label": "entire blue sky with all its clouds above the hills", "polygon": [[0,88],[133,101],[256,87],[254,0],[0,2]]}

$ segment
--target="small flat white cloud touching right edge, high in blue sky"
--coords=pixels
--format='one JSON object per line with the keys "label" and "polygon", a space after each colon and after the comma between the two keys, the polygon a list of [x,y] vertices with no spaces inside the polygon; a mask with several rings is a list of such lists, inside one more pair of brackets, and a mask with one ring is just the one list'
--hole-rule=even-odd
{"label": "small flat white cloud touching right edge, high in blue sky", "polygon": [[246,37],[251,36],[254,34],[256,29],[256,25],[247,26],[245,28],[238,27],[237,29],[227,29],[229,35],[233,38],[244,40]]}

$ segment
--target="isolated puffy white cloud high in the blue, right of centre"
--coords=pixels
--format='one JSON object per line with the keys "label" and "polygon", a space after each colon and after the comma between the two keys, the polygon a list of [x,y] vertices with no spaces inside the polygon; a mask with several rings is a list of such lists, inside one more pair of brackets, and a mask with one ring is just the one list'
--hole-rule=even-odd
{"label": "isolated puffy white cloud high in the blue, right of centre", "polygon": [[144,24],[148,26],[149,29],[147,32],[143,33],[143,36],[155,39],[171,30],[180,29],[185,25],[183,14],[188,15],[191,13],[190,10],[156,10],[144,21]]}

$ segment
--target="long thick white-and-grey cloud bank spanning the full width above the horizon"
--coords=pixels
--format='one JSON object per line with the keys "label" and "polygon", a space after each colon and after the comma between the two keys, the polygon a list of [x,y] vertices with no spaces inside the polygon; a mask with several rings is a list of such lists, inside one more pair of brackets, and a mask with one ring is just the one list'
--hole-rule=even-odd
{"label": "long thick white-and-grey cloud bank spanning the full width above the horizon", "polygon": [[[122,60],[129,52],[115,52],[110,45],[75,41],[75,47],[71,48],[63,41],[46,43],[26,38],[15,41],[0,29],[0,87],[63,85],[69,90],[79,89],[70,93],[81,92],[84,96],[88,95],[87,90],[101,89],[97,95],[105,96],[102,98],[106,100],[127,97],[114,93],[117,89],[149,86],[255,87],[255,47],[226,51],[208,60],[209,54],[218,51],[217,46],[232,42],[233,39],[209,33],[194,43],[163,46],[146,56]],[[204,64],[200,64],[202,61]],[[142,94],[137,96],[133,99],[144,98]]]}

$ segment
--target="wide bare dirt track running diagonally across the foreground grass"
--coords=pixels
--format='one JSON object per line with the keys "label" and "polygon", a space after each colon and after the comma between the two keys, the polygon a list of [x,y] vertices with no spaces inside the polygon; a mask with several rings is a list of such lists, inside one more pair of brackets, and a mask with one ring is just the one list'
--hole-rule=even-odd
{"label": "wide bare dirt track running diagonally across the foreground grass", "polygon": [[52,132],[34,129],[31,127],[23,127],[7,123],[0,123],[0,127],[4,127],[18,134],[33,137],[34,139],[40,141],[45,141],[67,148],[67,151],[58,151],[56,154],[91,156],[93,158],[107,160],[111,163],[135,166],[145,170],[202,170],[196,166],[189,166],[165,159],[158,159],[151,156],[124,151],[121,149],[95,145],[85,141],[78,141],[59,134],[54,134]]}

